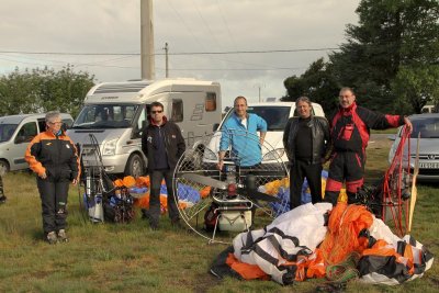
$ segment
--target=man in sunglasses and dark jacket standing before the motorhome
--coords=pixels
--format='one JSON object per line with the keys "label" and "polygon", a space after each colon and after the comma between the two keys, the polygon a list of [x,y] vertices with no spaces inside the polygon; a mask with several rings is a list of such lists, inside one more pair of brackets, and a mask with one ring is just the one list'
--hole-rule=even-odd
{"label": "man in sunglasses and dark jacket standing before the motorhome", "polygon": [[160,217],[160,187],[165,178],[168,191],[168,212],[172,225],[180,225],[180,217],[172,188],[172,174],[179,158],[185,150],[184,139],[180,127],[168,121],[164,114],[164,105],[159,102],[151,103],[150,124],[142,134],[142,150],[148,158],[148,172],[150,180],[149,213],[144,212],[149,218],[153,229],[158,229]]}

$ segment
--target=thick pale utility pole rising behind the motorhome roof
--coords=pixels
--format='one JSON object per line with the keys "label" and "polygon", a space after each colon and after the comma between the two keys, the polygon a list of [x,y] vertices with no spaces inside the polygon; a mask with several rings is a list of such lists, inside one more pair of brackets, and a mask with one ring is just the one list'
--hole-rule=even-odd
{"label": "thick pale utility pole rising behind the motorhome roof", "polygon": [[140,0],[140,56],[142,79],[154,80],[153,0]]}

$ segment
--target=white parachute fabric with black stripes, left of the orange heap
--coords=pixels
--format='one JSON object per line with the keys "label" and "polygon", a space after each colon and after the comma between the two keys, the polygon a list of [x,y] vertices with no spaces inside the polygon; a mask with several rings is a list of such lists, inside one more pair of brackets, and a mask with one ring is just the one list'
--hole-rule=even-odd
{"label": "white parachute fabric with black stripes, left of the orange heap", "polygon": [[282,214],[264,229],[239,234],[233,241],[235,257],[257,264],[273,280],[284,284],[284,274],[294,279],[294,271],[284,264],[297,261],[297,256],[311,256],[325,238],[324,215],[330,209],[329,203],[304,204]]}

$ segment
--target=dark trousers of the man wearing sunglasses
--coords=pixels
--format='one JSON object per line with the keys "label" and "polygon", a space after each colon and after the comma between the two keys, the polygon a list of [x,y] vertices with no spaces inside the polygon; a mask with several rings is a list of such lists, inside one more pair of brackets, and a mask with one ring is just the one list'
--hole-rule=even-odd
{"label": "dark trousers of the man wearing sunglasses", "polygon": [[149,216],[150,224],[158,225],[160,217],[160,187],[161,180],[165,179],[166,189],[168,191],[168,213],[172,222],[180,218],[177,203],[175,200],[175,192],[172,187],[173,170],[154,170],[149,173],[150,193],[149,193]]}

